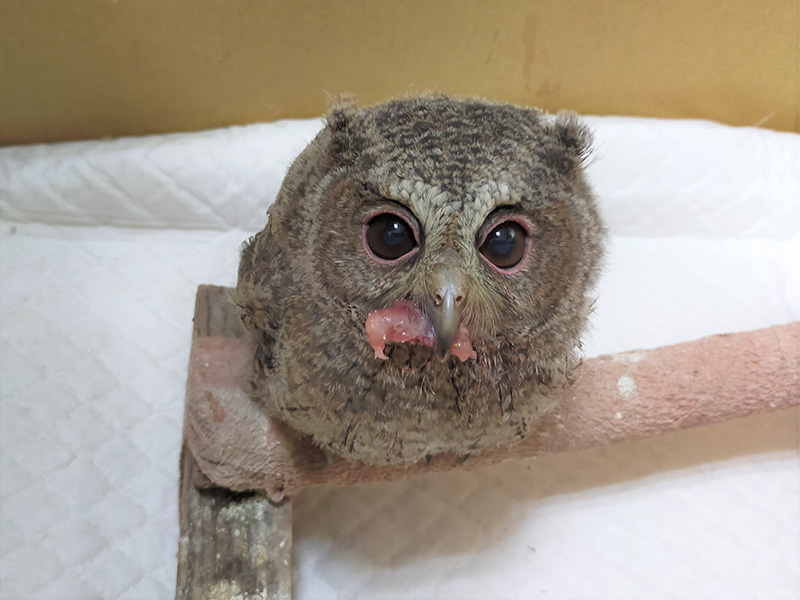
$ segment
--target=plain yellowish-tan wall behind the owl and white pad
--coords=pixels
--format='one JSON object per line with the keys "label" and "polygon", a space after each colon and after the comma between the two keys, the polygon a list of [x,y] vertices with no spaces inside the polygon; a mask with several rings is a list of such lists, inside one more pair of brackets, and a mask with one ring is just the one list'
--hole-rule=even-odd
{"label": "plain yellowish-tan wall behind the owl and white pad", "polygon": [[435,89],[800,131],[800,0],[0,0],[0,143]]}

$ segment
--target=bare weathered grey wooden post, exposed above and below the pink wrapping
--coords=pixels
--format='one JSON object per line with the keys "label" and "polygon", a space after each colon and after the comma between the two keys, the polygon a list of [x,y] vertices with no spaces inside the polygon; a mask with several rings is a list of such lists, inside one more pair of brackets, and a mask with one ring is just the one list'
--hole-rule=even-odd
{"label": "bare weathered grey wooden post, exposed above and below the pink wrapping", "polygon": [[[246,335],[236,311],[228,306],[228,293],[224,288],[200,287],[195,338]],[[184,444],[179,506],[177,599],[291,598],[292,505],[288,499],[273,504],[262,495],[209,488]]]}

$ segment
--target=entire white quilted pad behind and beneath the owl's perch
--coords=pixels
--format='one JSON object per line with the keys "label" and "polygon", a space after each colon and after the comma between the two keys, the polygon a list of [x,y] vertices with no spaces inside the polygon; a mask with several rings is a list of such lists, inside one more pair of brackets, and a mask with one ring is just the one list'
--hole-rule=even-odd
{"label": "entire white quilted pad behind and beneath the owl's perch", "polygon": [[[800,319],[800,136],[591,118],[587,354]],[[169,598],[194,294],[318,121],[0,149],[0,598]],[[755,384],[758,373],[753,373]],[[299,600],[797,598],[800,412],[295,499]]]}

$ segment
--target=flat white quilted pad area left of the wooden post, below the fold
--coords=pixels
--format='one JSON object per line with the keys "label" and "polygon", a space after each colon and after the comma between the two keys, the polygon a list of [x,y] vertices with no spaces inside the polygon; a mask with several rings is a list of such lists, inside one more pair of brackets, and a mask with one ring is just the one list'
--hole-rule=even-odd
{"label": "flat white quilted pad area left of the wooden post, below the fold", "polygon": [[170,597],[194,291],[244,234],[3,229],[0,595]]}

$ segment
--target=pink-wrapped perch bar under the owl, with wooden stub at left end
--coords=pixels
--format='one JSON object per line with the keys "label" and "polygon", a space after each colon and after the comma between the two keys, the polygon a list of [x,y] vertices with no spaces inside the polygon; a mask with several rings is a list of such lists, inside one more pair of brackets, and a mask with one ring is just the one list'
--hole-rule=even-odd
{"label": "pink-wrapped perch bar under the owl, with wooden stub at left end", "polygon": [[[270,422],[248,396],[253,346],[229,292],[198,290],[184,435],[215,485],[263,491],[274,501],[313,485],[386,481],[581,450],[800,403],[795,322],[587,360],[534,432],[511,447],[466,458],[445,453],[409,467],[329,460],[309,439]],[[209,321],[222,326],[209,328]]]}

